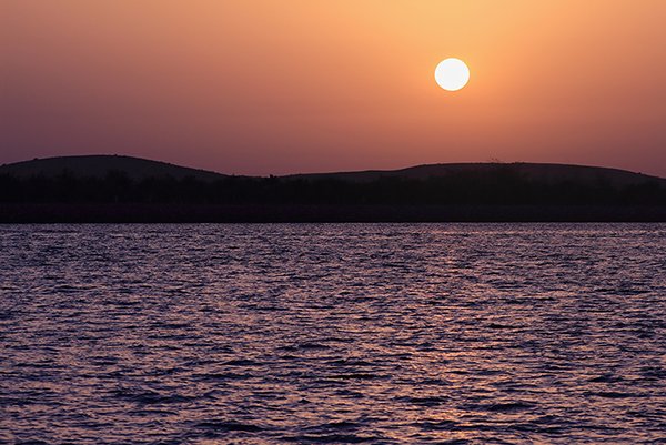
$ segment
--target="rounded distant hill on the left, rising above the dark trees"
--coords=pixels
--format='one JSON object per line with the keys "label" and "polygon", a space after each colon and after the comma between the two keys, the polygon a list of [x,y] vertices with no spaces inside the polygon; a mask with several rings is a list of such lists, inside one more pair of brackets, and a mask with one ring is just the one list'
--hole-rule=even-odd
{"label": "rounded distant hill on the left, rising above the dark trees", "polygon": [[104,178],[110,172],[123,172],[132,180],[171,176],[178,180],[192,176],[214,181],[224,175],[205,170],[189,169],[167,162],[121,155],[87,155],[34,159],[0,166],[0,174],[18,178],[56,178],[67,172],[75,178]]}

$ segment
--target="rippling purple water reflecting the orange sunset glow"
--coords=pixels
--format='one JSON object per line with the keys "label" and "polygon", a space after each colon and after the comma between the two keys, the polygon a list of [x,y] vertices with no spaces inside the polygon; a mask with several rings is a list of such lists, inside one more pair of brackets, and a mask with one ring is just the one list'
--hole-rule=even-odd
{"label": "rippling purple water reflecting the orange sunset glow", "polygon": [[3,225],[0,264],[0,443],[666,443],[664,224]]}

